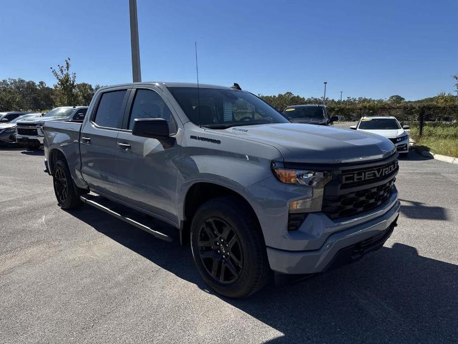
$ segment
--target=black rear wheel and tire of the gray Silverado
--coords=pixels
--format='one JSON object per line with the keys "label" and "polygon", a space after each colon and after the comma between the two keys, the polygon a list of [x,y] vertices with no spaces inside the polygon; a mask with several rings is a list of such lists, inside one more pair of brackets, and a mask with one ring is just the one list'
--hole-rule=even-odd
{"label": "black rear wheel and tire of the gray Silverado", "polygon": [[52,184],[57,204],[62,209],[75,209],[83,205],[80,199],[82,192],[73,183],[73,179],[67,164],[63,160],[57,160],[52,167]]}

